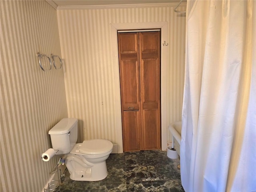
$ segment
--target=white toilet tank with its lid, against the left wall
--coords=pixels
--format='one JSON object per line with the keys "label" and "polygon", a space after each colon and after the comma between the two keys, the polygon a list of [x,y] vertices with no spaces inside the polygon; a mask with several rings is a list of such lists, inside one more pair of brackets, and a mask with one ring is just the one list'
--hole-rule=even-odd
{"label": "white toilet tank with its lid, against the left wall", "polygon": [[76,118],[64,118],[50,129],[52,148],[59,150],[58,155],[69,153],[76,144],[77,122]]}

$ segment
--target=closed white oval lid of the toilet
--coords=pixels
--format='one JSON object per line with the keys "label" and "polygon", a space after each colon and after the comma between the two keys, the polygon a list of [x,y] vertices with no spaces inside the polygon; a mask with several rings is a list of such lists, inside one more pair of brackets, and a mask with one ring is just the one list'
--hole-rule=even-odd
{"label": "closed white oval lid of the toilet", "polygon": [[112,150],[112,142],[104,139],[86,140],[80,147],[80,152],[84,154],[101,154]]}

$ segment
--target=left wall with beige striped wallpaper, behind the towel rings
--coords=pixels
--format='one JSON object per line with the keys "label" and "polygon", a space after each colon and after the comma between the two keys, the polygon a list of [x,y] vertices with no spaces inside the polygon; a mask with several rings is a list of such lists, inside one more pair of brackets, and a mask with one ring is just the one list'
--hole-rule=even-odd
{"label": "left wall with beige striped wallpaper, behind the towel rings", "polygon": [[0,1],[1,192],[41,191],[54,160],[48,130],[67,117],[63,70],[43,72],[37,52],[61,56],[56,10],[45,1]]}

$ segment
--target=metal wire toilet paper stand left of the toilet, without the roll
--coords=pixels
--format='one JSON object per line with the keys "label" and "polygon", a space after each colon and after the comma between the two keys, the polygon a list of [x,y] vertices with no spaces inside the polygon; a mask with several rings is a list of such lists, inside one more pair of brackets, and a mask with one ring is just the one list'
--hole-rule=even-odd
{"label": "metal wire toilet paper stand left of the toilet, without the roll", "polygon": [[[57,176],[58,176],[58,180],[51,180],[49,183],[48,183],[48,186],[47,188],[44,188],[44,192],[60,192],[60,176],[59,176],[59,170],[58,170],[58,161],[57,161],[57,153],[59,150],[55,150],[55,161],[56,161],[56,166],[52,169],[52,171],[50,172],[50,174],[55,174],[57,173]],[[41,154],[41,158],[43,159],[44,156],[42,156]],[[54,178],[54,177],[53,177]]]}

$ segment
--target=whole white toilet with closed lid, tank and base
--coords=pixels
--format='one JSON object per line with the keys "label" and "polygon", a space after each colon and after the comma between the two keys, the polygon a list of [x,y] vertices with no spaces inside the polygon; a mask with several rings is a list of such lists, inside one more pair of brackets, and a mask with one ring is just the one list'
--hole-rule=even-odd
{"label": "whole white toilet with closed lid, tank and base", "polygon": [[66,156],[70,178],[76,181],[99,181],[108,175],[106,159],[112,152],[112,142],[104,139],[77,141],[76,118],[60,120],[50,131],[52,148]]}

